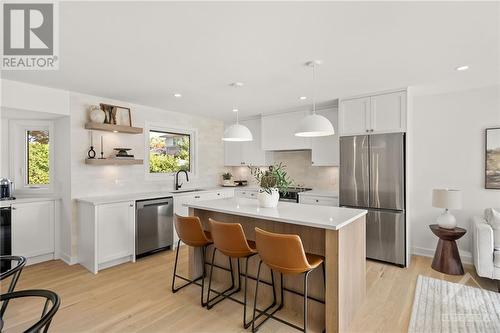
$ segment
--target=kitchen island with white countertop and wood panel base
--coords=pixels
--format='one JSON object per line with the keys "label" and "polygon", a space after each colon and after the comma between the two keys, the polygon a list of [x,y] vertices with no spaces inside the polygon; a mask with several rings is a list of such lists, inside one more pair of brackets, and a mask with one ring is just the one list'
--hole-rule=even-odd
{"label": "kitchen island with white countertop and wood panel base", "polygon": [[[309,328],[314,331],[326,328],[327,332],[345,332],[348,329],[366,294],[365,210],[287,202],[280,202],[277,208],[260,208],[257,200],[242,198],[202,201],[186,206],[189,207],[189,215],[200,218],[205,230],[209,230],[208,219],[212,218],[226,223],[240,223],[249,240],[255,240],[255,227],[299,235],[306,252],[325,257],[326,288],[321,268],[314,270],[309,278]],[[211,253],[211,250],[207,251],[207,262],[211,260]],[[202,273],[201,257],[200,252],[190,248],[191,278]],[[215,262],[229,267],[228,258],[220,252],[216,254]],[[249,277],[257,275],[258,263],[258,256],[250,259]],[[237,266],[234,261],[235,276]],[[265,265],[261,276],[264,281],[271,282],[270,269]],[[279,274],[275,274],[274,278],[279,298]],[[228,271],[214,269],[213,279],[219,283],[221,290],[230,285]],[[249,299],[253,300],[255,280],[249,278],[248,281]],[[303,293],[303,276],[284,276],[284,287],[284,308],[302,314],[303,298],[296,292]],[[263,309],[271,304],[272,295],[271,286],[261,284],[258,308]],[[253,303],[249,305],[250,308],[252,306]],[[243,310],[238,308],[235,311]],[[249,315],[251,316],[250,312]],[[279,317],[280,312],[276,315]],[[301,315],[296,316],[294,321],[302,326]]]}

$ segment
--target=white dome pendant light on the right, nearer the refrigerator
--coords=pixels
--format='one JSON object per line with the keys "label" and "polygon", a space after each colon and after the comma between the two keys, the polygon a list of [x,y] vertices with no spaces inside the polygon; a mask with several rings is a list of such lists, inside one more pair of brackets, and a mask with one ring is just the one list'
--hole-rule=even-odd
{"label": "white dome pendant light on the right, nearer the refrigerator", "polygon": [[316,114],[316,66],[320,64],[320,60],[306,63],[307,66],[312,67],[313,71],[313,112],[301,119],[295,136],[318,137],[335,134],[332,123],[326,117]]}

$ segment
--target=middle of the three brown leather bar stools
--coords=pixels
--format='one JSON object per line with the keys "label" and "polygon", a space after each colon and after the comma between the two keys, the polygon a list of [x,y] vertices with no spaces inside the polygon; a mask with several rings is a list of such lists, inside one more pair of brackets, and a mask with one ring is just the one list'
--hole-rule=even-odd
{"label": "middle of the three brown leather bar stools", "polygon": [[[243,326],[248,328],[251,322],[246,322],[247,315],[247,285],[248,285],[248,259],[257,254],[255,243],[248,241],[243,232],[243,228],[239,223],[223,223],[209,219],[210,231],[214,241],[214,251],[212,253],[212,265],[210,266],[210,280],[208,282],[207,309],[211,309],[215,304],[223,301],[231,295],[241,290],[240,278],[240,258],[245,258],[245,290],[243,296]],[[231,286],[223,292],[216,292],[217,296],[210,299],[210,291],[212,286],[212,273],[214,268],[214,258],[216,251],[221,252],[229,258],[229,266],[231,270]],[[235,258],[238,261],[238,287],[234,286],[234,274],[231,259]]]}

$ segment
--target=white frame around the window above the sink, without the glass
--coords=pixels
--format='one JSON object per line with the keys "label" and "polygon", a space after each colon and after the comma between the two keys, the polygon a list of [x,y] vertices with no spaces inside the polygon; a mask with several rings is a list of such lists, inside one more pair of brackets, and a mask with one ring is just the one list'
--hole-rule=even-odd
{"label": "white frame around the window above the sink, without the glass", "polygon": [[196,179],[198,170],[198,131],[193,128],[173,127],[167,124],[146,122],[144,131],[144,173],[148,180],[170,180],[175,172],[151,173],[149,172],[149,132],[168,132],[173,134],[189,135],[189,164],[191,171],[188,172],[190,179]]}

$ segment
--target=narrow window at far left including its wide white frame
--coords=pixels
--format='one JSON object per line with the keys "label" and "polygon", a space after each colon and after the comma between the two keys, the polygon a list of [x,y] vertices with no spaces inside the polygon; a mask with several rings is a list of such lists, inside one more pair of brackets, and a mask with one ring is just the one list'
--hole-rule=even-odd
{"label": "narrow window at far left including its wide white frame", "polygon": [[54,183],[54,123],[9,120],[9,124],[9,174],[16,183],[16,192],[50,193]]}

